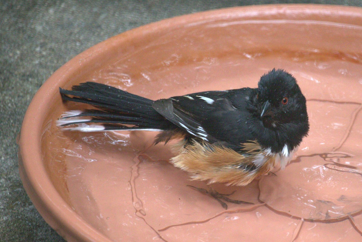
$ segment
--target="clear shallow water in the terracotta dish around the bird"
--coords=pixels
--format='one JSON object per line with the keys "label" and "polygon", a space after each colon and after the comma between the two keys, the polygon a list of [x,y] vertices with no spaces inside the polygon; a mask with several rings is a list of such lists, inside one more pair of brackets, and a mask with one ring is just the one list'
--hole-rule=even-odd
{"label": "clear shallow water in the terracotta dish around the bird", "polygon": [[[308,33],[313,23],[305,24],[299,31]],[[73,209],[114,241],[361,239],[362,77],[361,59],[353,54],[358,53],[353,52],[358,46],[350,45],[352,52],[341,52],[322,41],[319,48],[307,48],[303,47],[307,43],[295,36],[293,43],[302,45],[298,51],[283,49],[282,43],[278,43],[279,49],[268,49],[263,47],[266,40],[245,37],[238,41],[230,39],[230,34],[220,34],[224,45],[215,49],[216,44],[207,44],[211,31],[207,28],[230,33],[242,25],[243,36],[249,37],[253,26],[240,22],[204,25],[205,33],[197,34],[206,35],[203,51],[200,44],[190,45],[195,39],[181,34],[181,41],[175,43],[177,53],[170,54],[167,48],[174,48],[169,45],[171,32],[157,39],[155,46],[151,42],[142,50],[110,59],[87,80],[159,99],[256,87],[265,72],[284,68],[295,76],[307,98],[311,126],[291,164],[246,187],[207,185],[190,181],[184,171],[167,162],[175,154],[169,145],[152,146],[156,133],[60,132],[51,122],[43,138],[44,157],[53,172],[63,177],[68,191],[64,196]],[[193,26],[189,28],[193,31]],[[257,31],[273,35],[274,28],[264,23]],[[295,23],[286,28],[295,29]],[[348,32],[342,35],[362,33],[343,26],[329,28],[331,32],[338,28]],[[315,33],[315,38],[318,42],[323,36]],[[242,51],[243,43],[251,48]],[[184,55],[186,47],[188,54]],[[68,103],[66,107],[83,106]],[[59,116],[62,110],[55,112]],[[224,194],[235,191],[230,199],[254,204],[226,202],[225,210],[218,201],[188,185]]]}

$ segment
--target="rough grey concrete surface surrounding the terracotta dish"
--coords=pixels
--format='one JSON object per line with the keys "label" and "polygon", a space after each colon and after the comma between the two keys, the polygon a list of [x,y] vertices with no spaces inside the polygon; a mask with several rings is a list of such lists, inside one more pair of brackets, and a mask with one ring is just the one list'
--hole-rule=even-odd
{"label": "rough grey concrete surface surrounding the terracotta dish", "polygon": [[0,0],[0,241],[64,241],[26,195],[18,175],[16,145],[26,108],[55,70],[96,43],[150,22],[272,3],[362,7],[361,0]]}

